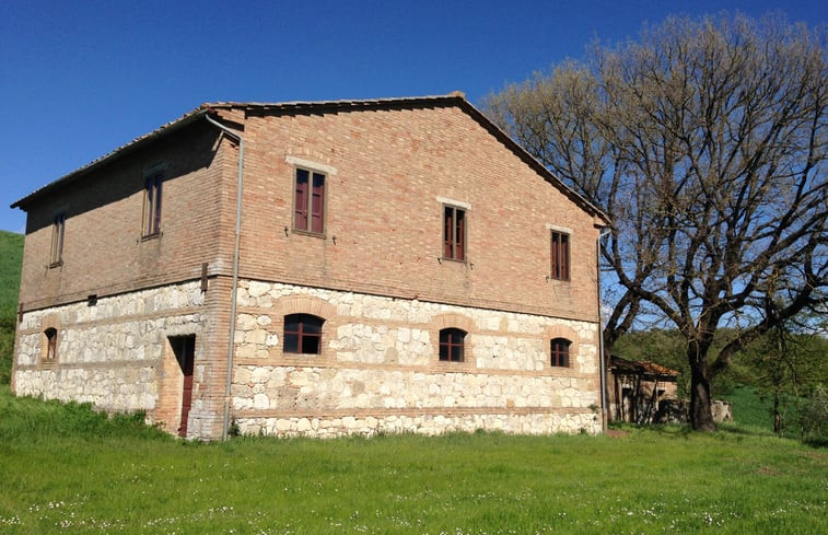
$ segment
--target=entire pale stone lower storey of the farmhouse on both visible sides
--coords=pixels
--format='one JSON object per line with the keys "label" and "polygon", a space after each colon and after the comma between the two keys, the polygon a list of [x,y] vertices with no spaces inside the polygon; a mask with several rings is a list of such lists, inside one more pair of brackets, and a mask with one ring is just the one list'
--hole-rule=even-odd
{"label": "entire pale stone lower storey of the farmhouse on both visible sides", "polygon": [[[596,323],[254,280],[237,303],[230,417],[242,433],[600,432]],[[26,312],[14,389],[144,410],[174,432],[183,375],[170,338],[195,335],[188,437],[214,439],[205,422],[221,407],[203,385],[226,349],[205,347],[213,313],[198,281]],[[319,354],[283,352],[283,318],[298,313],[325,319]],[[467,333],[464,362],[439,360],[450,327]],[[550,365],[558,337],[571,341],[567,368]]]}

